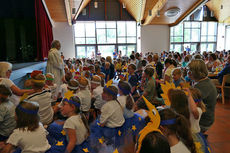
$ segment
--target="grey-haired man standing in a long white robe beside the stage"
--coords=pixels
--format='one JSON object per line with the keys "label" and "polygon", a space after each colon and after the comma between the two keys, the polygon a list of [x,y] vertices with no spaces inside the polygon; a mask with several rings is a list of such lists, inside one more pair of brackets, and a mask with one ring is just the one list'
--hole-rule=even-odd
{"label": "grey-haired man standing in a long white robe beside the stage", "polygon": [[46,67],[46,73],[52,73],[54,75],[54,83],[58,86],[60,86],[64,76],[64,63],[59,52],[60,49],[60,42],[58,40],[54,40],[48,54]]}

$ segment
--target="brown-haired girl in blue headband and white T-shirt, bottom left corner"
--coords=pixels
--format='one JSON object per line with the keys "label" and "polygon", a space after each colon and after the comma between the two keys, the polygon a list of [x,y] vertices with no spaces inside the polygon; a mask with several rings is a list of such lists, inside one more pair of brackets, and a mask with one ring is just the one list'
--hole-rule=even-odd
{"label": "brown-haired girl in blue headband and white T-shirt, bottom left corner", "polygon": [[50,149],[46,139],[47,131],[39,123],[39,105],[32,101],[21,101],[15,109],[16,129],[7,140],[3,153],[10,153],[19,147],[22,153],[45,153]]}

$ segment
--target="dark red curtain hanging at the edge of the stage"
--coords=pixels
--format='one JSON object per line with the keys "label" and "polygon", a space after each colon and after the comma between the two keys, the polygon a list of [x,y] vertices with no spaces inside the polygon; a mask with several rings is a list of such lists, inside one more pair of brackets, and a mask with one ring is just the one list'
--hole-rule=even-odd
{"label": "dark red curtain hanging at the edge of the stage", "polygon": [[40,61],[48,57],[48,51],[53,41],[52,24],[49,20],[42,0],[35,0],[37,58]]}

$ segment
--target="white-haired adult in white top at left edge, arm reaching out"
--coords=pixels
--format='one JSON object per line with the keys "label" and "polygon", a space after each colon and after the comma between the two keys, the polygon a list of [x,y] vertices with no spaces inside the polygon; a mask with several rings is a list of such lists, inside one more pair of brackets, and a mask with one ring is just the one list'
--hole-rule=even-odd
{"label": "white-haired adult in white top at left edge, arm reaching out", "polygon": [[9,62],[0,62],[0,84],[10,88],[13,95],[10,97],[10,101],[15,105],[19,103],[17,96],[22,96],[26,92],[32,92],[33,90],[20,89],[18,88],[9,78],[12,72],[12,64]]}

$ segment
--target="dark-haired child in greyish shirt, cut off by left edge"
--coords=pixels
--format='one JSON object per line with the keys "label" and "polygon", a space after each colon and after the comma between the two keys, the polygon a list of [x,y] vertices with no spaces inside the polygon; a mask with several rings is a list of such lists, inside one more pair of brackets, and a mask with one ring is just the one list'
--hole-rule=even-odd
{"label": "dark-haired child in greyish shirt, cut off by left edge", "polygon": [[9,101],[11,90],[5,85],[0,85],[0,142],[5,141],[16,127],[14,120],[14,104]]}

